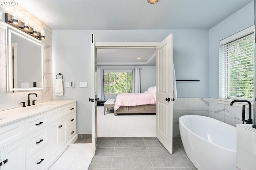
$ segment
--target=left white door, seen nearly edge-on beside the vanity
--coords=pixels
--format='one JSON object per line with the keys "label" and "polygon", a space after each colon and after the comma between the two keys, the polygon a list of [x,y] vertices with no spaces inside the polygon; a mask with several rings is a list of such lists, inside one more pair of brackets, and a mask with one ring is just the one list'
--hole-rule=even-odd
{"label": "left white door, seen nearly edge-on beside the vanity", "polygon": [[92,34],[92,98],[89,102],[92,102],[92,153],[95,154],[97,145],[97,50],[95,47],[94,35]]}

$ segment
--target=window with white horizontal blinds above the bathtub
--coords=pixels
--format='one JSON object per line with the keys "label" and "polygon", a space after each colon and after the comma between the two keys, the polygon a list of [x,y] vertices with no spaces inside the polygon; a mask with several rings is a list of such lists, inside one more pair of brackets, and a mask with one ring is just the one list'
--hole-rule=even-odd
{"label": "window with white horizontal blinds above the bathtub", "polygon": [[220,48],[220,98],[254,98],[254,32]]}

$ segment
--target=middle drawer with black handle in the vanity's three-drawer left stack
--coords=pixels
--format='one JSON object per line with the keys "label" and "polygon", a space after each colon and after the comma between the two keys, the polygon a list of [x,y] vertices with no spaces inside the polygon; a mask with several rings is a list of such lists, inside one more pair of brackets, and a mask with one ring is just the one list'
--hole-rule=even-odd
{"label": "middle drawer with black handle in the vanity's three-drawer left stack", "polygon": [[26,138],[27,157],[48,144],[48,135],[48,127],[46,127]]}

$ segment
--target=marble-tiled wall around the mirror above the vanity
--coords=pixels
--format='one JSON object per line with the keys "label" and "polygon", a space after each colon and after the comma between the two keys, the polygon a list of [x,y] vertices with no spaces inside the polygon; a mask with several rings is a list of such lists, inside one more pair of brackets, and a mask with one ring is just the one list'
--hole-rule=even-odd
{"label": "marble-tiled wall around the mirror above the vanity", "polygon": [[[38,25],[38,31],[43,28],[45,30],[44,43],[44,90],[35,91],[38,97],[31,96],[31,100],[36,100],[36,103],[42,103],[52,100],[52,29],[42,23],[40,20],[28,13],[20,6],[0,6],[0,111],[21,107],[20,102],[28,100],[28,93],[34,92],[15,92],[8,93],[6,86],[6,27],[9,24],[4,22],[4,13],[18,13],[19,20],[24,22],[24,18],[29,19],[30,27]],[[11,26],[12,27],[12,26]]]}

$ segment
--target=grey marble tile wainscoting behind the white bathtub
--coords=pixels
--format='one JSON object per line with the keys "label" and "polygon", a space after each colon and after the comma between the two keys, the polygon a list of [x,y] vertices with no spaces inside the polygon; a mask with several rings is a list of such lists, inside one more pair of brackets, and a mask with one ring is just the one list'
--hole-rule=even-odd
{"label": "grey marble tile wainscoting behind the white bathtub", "polygon": [[[248,106],[246,106],[245,118],[248,119]],[[252,119],[254,119],[252,107]],[[203,115],[223,121],[236,127],[242,123],[242,106],[230,106],[219,103],[215,98],[178,98],[173,105],[173,136],[180,134],[179,117],[183,115]]]}

